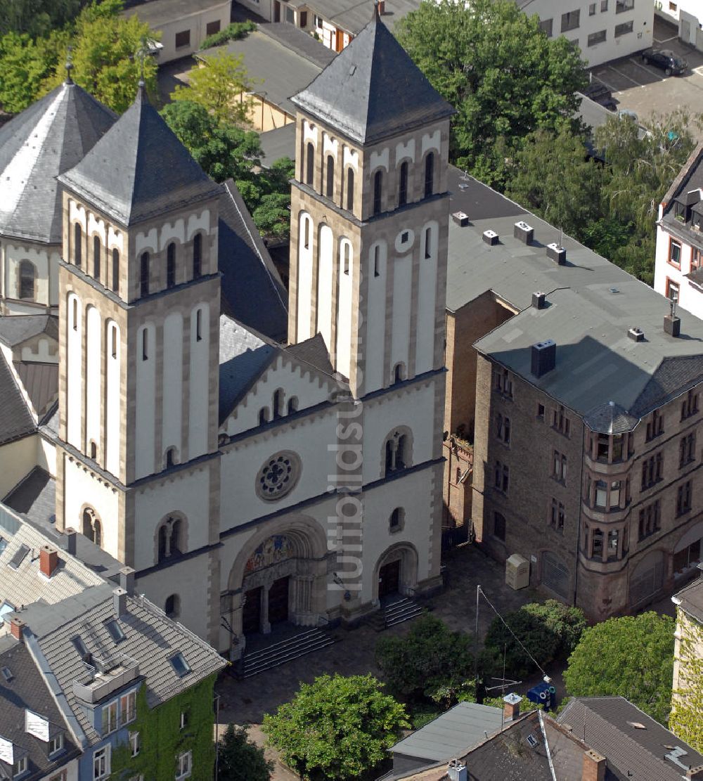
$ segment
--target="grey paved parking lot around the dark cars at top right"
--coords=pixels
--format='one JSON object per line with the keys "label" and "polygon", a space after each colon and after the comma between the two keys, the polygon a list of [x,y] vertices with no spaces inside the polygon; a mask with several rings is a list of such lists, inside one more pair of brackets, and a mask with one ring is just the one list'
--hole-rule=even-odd
{"label": "grey paved parking lot around the dark cars at top right", "polygon": [[[593,69],[594,79],[605,84],[619,109],[629,109],[640,119],[652,112],[685,109],[691,115],[703,114],[703,52],[683,44],[676,29],[655,18],[654,48],[668,48],[688,62],[683,76],[667,77],[663,70],[645,65],[639,55],[607,62]],[[703,130],[694,129],[703,140]]]}

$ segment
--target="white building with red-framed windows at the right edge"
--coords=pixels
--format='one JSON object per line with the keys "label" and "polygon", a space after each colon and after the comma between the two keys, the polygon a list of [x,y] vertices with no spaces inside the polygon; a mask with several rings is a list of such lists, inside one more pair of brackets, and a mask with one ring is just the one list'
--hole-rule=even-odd
{"label": "white building with red-framed windows at the right edge", "polygon": [[659,205],[655,291],[703,318],[703,144]]}

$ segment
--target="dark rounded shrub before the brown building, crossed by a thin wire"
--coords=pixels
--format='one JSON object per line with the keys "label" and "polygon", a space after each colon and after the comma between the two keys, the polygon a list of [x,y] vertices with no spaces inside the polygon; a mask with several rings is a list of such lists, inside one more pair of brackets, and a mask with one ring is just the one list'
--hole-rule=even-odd
{"label": "dark rounded shrub before the brown building, crossed by a thin wire", "polygon": [[[586,628],[586,618],[580,608],[548,599],[524,604],[519,610],[507,613],[505,622],[539,665],[547,665],[557,658],[566,658]],[[523,651],[515,638],[496,616],[486,633],[481,668],[484,672],[502,671],[509,677],[522,677],[537,672],[534,662]]]}

